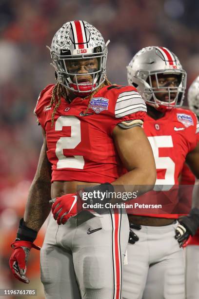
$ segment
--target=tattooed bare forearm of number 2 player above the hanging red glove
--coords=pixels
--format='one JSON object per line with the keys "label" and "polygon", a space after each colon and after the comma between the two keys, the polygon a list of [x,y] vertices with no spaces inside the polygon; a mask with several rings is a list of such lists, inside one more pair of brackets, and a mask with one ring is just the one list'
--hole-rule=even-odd
{"label": "tattooed bare forearm of number 2 player above the hanging red glove", "polygon": [[25,225],[35,231],[39,231],[51,210],[49,200],[51,184],[40,178],[35,178],[29,192],[24,222]]}

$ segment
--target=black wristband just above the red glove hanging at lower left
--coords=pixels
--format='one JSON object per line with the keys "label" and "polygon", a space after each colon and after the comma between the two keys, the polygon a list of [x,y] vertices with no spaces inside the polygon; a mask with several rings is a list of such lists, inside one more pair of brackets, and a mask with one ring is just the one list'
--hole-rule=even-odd
{"label": "black wristband just above the red glove hanging at lower left", "polygon": [[37,238],[37,231],[30,229],[24,224],[23,218],[20,219],[20,225],[17,232],[17,238],[15,241],[29,241],[34,242]]}

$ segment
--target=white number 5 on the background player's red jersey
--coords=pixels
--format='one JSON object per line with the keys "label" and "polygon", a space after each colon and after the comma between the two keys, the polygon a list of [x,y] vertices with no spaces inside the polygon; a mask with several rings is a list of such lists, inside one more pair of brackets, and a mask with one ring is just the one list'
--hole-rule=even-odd
{"label": "white number 5 on the background player's red jersey", "polygon": [[[161,185],[162,191],[168,191],[175,184],[175,163],[170,157],[159,157],[159,148],[173,148],[173,140],[171,136],[153,136],[148,137],[153,149],[156,162],[156,169],[165,169],[164,179],[157,179],[156,185]],[[163,186],[162,186],[163,185]],[[154,190],[158,191],[159,187],[155,186]]]}

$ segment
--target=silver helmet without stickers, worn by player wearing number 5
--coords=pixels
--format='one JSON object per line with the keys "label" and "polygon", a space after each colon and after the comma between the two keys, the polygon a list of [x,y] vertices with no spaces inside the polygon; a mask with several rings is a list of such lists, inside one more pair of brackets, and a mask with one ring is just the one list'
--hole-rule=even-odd
{"label": "silver helmet without stickers, worn by player wearing number 5", "polygon": [[[170,74],[177,75],[178,86],[159,86],[159,76]],[[128,84],[138,89],[147,104],[162,112],[183,103],[186,72],[178,57],[167,48],[151,46],[141,49],[127,66],[127,78]],[[152,86],[152,78],[156,79],[157,87]],[[167,94],[168,101],[160,101],[156,97],[159,92]],[[176,96],[171,97],[171,94]]]}

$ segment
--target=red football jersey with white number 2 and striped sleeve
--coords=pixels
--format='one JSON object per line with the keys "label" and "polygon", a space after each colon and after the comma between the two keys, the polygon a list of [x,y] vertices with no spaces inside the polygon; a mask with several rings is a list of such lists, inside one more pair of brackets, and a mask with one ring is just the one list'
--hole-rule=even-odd
{"label": "red football jersey with white number 2 and striped sleeve", "polygon": [[105,86],[91,101],[77,97],[68,103],[61,98],[52,127],[53,87],[41,91],[35,108],[46,133],[52,182],[113,182],[126,172],[115,149],[113,129],[122,122],[143,120],[145,102],[132,86]]}

